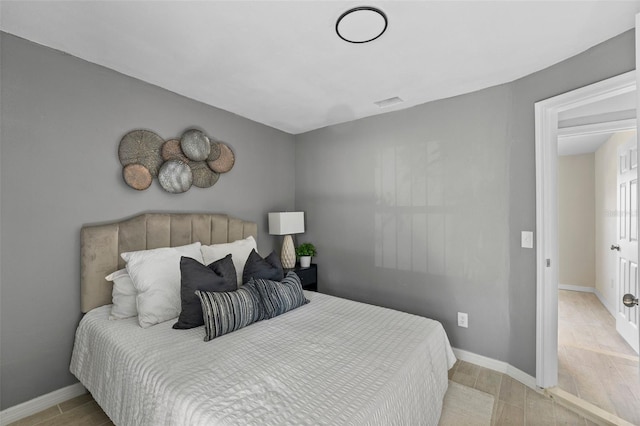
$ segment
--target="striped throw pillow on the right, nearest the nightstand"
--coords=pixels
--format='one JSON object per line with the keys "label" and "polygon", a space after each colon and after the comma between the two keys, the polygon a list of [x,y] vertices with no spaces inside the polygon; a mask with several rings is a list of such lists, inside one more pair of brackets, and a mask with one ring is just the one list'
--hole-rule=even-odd
{"label": "striped throw pillow on the right, nearest the nightstand", "polygon": [[309,301],[304,297],[300,277],[290,271],[282,281],[251,279],[260,293],[266,319],[277,317]]}

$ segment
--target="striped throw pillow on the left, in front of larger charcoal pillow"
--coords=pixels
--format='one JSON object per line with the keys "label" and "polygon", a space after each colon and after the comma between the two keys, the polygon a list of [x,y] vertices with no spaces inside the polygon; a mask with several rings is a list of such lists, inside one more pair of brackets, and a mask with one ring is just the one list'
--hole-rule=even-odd
{"label": "striped throw pillow on the left, in front of larger charcoal pillow", "polygon": [[254,286],[226,292],[196,290],[196,295],[202,306],[205,342],[264,318],[260,294]]}

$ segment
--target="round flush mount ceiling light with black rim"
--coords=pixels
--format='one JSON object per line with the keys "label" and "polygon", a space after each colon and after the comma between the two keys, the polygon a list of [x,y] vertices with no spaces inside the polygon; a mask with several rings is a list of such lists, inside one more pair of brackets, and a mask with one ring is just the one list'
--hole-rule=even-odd
{"label": "round flush mount ceiling light with black rim", "polygon": [[336,22],[336,33],[349,43],[368,43],[380,37],[386,29],[387,15],[370,6],[349,9]]}

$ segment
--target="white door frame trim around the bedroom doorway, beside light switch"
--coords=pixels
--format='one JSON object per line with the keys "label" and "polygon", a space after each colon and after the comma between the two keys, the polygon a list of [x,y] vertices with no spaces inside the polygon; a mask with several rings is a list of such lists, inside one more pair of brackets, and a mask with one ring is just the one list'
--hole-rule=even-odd
{"label": "white door frame trim around the bedroom doorway, beside light switch", "polygon": [[636,72],[629,71],[535,104],[536,386],[541,388],[558,383],[558,115],[635,90]]}

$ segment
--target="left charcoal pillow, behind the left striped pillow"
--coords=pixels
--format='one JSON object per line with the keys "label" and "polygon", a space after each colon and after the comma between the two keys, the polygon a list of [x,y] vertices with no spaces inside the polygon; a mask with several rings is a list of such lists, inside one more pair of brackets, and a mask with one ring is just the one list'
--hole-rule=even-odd
{"label": "left charcoal pillow, behind the left striped pillow", "polygon": [[237,288],[236,268],[231,255],[216,260],[208,266],[195,259],[182,256],[180,258],[180,298],[182,311],[176,329],[189,329],[204,324],[200,299],[196,290],[201,291],[233,291]]}

